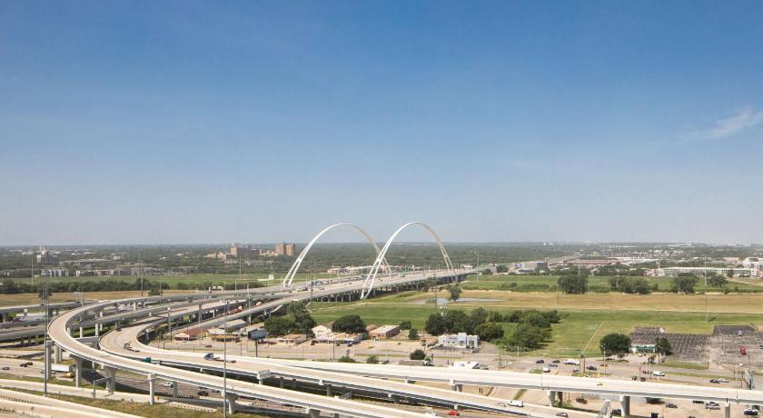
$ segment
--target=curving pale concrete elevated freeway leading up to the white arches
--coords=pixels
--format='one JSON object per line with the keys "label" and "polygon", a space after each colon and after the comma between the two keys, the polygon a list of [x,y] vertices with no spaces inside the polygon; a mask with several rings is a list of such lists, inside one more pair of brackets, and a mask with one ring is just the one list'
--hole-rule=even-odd
{"label": "curving pale concrete elevated freeway leading up to the white arches", "polygon": [[[431,276],[446,279],[454,272],[435,271],[408,275],[388,275],[378,277],[374,288],[395,289],[399,287],[420,284]],[[467,271],[455,271],[463,275]],[[206,361],[203,353],[174,353],[150,347],[139,342],[139,337],[147,333],[159,323],[172,323],[173,320],[197,314],[196,326],[212,327],[225,321],[253,314],[269,313],[278,307],[294,301],[320,300],[371,292],[365,289],[362,280],[334,281],[322,284],[321,287],[302,287],[302,289],[259,288],[252,292],[226,292],[223,294],[186,294],[173,296],[154,296],[149,298],[125,299],[119,301],[101,302],[75,307],[71,311],[54,318],[50,326],[50,336],[54,343],[71,353],[77,364],[83,360],[104,365],[107,375],[114,376],[116,370],[143,374],[149,382],[149,390],[154,392],[154,381],[163,379],[176,383],[203,386],[226,393],[229,408],[234,405],[234,396],[241,395],[270,401],[296,405],[306,413],[317,416],[320,412],[340,413],[359,417],[394,417],[421,416],[421,413],[403,411],[390,406],[357,403],[352,400],[336,399],[312,393],[302,393],[282,387],[265,384],[249,383],[242,380],[229,379],[203,374],[191,370],[219,371],[222,363]],[[214,316],[203,321],[202,313],[210,309],[221,308],[223,301],[235,301],[236,304],[246,304],[243,311],[236,314]],[[255,303],[255,304],[253,304]],[[114,310],[113,307],[132,306],[127,311]],[[112,308],[109,310],[109,308]],[[154,319],[146,319],[154,316]],[[128,323],[142,320],[136,325]],[[104,323],[124,323],[117,326],[121,331],[107,333],[101,340],[101,348],[97,349],[81,343],[72,336],[76,328],[94,327],[96,330]],[[140,350],[135,353],[125,350],[124,343],[131,343]],[[145,363],[140,358],[153,357],[154,362]],[[132,358],[131,358],[132,357]],[[558,409],[540,405],[526,405],[524,409],[512,408],[508,404],[486,396],[433,389],[431,387],[411,384],[412,382],[447,383],[459,389],[463,385],[490,385],[513,388],[539,389],[549,393],[553,399],[557,393],[601,393],[619,397],[623,411],[629,411],[629,399],[638,397],[659,397],[674,399],[699,399],[716,401],[727,405],[729,414],[731,403],[757,404],[763,400],[763,392],[737,391],[729,388],[695,386],[668,383],[640,383],[611,379],[590,379],[559,375],[543,375],[532,373],[498,372],[483,370],[452,370],[440,367],[411,367],[398,365],[373,365],[357,363],[323,363],[296,362],[287,360],[248,358],[231,356],[236,363],[226,363],[229,373],[238,376],[258,377],[260,383],[267,379],[284,379],[302,383],[319,384],[326,387],[331,394],[332,387],[349,389],[364,389],[367,391],[386,393],[391,400],[413,398],[421,402],[467,407],[484,411],[501,411],[506,413],[523,413],[534,416],[550,416],[559,413]],[[79,368],[81,369],[81,367]],[[113,390],[113,383],[112,383]],[[580,416],[587,413],[570,413],[570,416]]]}

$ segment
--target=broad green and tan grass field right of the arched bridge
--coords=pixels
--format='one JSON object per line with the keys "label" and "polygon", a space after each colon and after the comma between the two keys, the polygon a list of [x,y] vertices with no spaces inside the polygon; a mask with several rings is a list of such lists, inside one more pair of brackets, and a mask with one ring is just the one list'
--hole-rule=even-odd
{"label": "broad green and tan grass field right of the arched bridge", "polygon": [[[464,292],[466,297],[485,295],[486,302],[449,304],[448,309],[471,311],[482,306],[488,310],[509,314],[516,309],[554,309],[553,295],[548,293]],[[426,318],[436,312],[431,293],[409,292],[393,294],[362,303],[313,303],[312,316],[326,323],[345,314],[359,314],[368,324],[397,324],[411,321],[422,329]],[[488,298],[491,300],[488,301]],[[553,325],[551,341],[535,353],[564,356],[584,352],[599,354],[599,339],[607,333],[630,333],[637,326],[661,326],[669,333],[712,333],[717,324],[763,323],[763,302],[760,294],[714,295],[708,298],[708,321],[704,312],[703,295],[629,295],[586,294],[563,295],[560,301],[561,323]],[[606,302],[606,304],[605,304]],[[738,310],[738,312],[734,312]],[[503,323],[507,333],[514,324]],[[533,353],[533,354],[535,354]]]}

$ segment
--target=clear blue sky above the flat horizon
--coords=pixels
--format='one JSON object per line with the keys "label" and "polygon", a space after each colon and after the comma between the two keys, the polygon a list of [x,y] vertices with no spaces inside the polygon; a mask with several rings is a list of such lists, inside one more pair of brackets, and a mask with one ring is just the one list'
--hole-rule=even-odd
{"label": "clear blue sky above the flat horizon", "polygon": [[409,220],[763,242],[761,22],[756,1],[2,2],[0,244]]}

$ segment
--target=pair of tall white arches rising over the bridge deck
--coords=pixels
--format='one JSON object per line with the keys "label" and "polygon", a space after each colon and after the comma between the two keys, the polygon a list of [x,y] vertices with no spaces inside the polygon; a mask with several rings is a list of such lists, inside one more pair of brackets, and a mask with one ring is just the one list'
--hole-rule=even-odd
{"label": "pair of tall white arches rising over the bridge deck", "polygon": [[[374,260],[373,264],[371,265],[371,269],[369,270],[368,274],[365,277],[365,280],[363,281],[362,289],[360,291],[360,297],[361,299],[365,299],[369,296],[369,294],[372,294],[372,291],[375,287],[381,287],[383,285],[382,282],[386,280],[388,277],[401,277],[404,276],[404,274],[393,274],[392,269],[389,264],[387,264],[387,252],[390,250],[391,244],[394,244],[395,240],[397,239],[398,235],[401,234],[402,231],[408,229],[411,226],[420,226],[423,228],[427,233],[431,234],[431,237],[434,239],[435,244],[437,244],[438,248],[440,249],[440,253],[442,255],[442,260],[445,263],[445,268],[442,270],[435,270],[435,271],[427,271],[427,272],[420,272],[413,274],[413,277],[411,277],[411,282],[417,282],[415,279],[420,279],[418,281],[424,281],[430,278],[434,278],[436,280],[440,280],[442,278],[450,278],[453,281],[457,281],[458,278],[464,274],[467,274],[469,272],[465,272],[463,270],[457,271],[451,262],[451,256],[448,254],[448,251],[445,249],[445,245],[442,244],[442,241],[440,237],[437,235],[437,233],[434,232],[433,229],[428,224],[424,224],[419,221],[409,222],[407,224],[403,224],[400,228],[398,228],[394,233],[391,234],[390,238],[387,239],[387,242],[379,248],[379,245],[376,243],[376,241],[373,240],[371,235],[363,231],[359,226],[355,224],[347,224],[347,223],[340,223],[340,224],[332,224],[331,226],[326,227],[323,229],[320,233],[316,234],[310,242],[305,245],[302,252],[297,256],[297,259],[292,264],[292,267],[289,269],[289,272],[283,276],[281,286],[282,288],[289,288],[292,287],[294,276],[296,276],[297,272],[300,269],[300,266],[302,266],[302,262],[304,261],[305,257],[310,253],[310,250],[312,249],[312,246],[321,239],[321,237],[331,231],[334,228],[338,227],[347,227],[352,228],[359,233],[361,233],[365,239],[372,244],[373,249],[376,252],[376,259]],[[377,277],[379,276],[379,271],[382,271],[381,277],[379,277],[379,280],[377,281]],[[418,277],[421,275],[421,277]]]}

